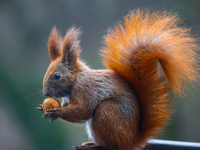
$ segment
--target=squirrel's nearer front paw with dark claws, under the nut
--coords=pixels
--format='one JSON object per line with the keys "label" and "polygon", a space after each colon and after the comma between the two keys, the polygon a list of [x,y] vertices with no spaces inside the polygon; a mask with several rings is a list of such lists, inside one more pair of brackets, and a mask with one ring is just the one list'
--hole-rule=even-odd
{"label": "squirrel's nearer front paw with dark claws, under the nut", "polygon": [[51,118],[49,122],[57,119],[60,117],[60,108],[53,108],[53,109],[48,109],[44,114],[44,118]]}

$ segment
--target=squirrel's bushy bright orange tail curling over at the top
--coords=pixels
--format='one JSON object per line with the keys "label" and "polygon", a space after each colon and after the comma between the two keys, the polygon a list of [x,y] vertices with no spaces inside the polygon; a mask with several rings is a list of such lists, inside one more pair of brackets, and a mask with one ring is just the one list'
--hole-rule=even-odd
{"label": "squirrel's bushy bright orange tail curling over at the top", "polygon": [[137,10],[105,36],[105,66],[132,85],[140,102],[136,143],[144,144],[167,124],[169,91],[182,95],[197,77],[196,40],[179,23],[176,15]]}

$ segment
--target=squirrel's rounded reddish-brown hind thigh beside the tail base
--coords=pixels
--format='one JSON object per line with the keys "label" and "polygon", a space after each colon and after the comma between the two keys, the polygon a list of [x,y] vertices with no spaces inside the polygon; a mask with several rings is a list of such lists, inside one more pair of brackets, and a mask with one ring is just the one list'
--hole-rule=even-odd
{"label": "squirrel's rounded reddish-brown hind thigh beside the tail base", "polygon": [[95,111],[92,130],[106,150],[132,150],[135,147],[138,113],[134,103],[123,97],[107,100]]}

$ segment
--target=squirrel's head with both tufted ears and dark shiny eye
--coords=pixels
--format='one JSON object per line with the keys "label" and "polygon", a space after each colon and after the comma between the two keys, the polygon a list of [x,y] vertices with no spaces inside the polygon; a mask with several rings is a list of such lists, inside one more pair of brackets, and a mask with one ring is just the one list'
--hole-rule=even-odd
{"label": "squirrel's head with both tufted ears and dark shiny eye", "polygon": [[70,94],[79,71],[79,29],[69,29],[64,39],[54,27],[48,40],[51,63],[43,79],[43,94],[51,97],[65,97]]}

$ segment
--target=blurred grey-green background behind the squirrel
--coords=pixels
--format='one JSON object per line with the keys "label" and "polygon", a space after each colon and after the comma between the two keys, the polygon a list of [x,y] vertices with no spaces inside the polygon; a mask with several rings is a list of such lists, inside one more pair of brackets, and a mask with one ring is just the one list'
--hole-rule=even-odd
{"label": "blurred grey-green background behind the squirrel", "polygon": [[[99,49],[107,28],[133,9],[177,13],[192,33],[200,35],[199,0],[0,0],[0,149],[70,150],[87,141],[85,126],[49,123],[36,110],[42,103],[42,79],[50,60],[49,33],[81,27],[81,58],[103,68]],[[198,69],[198,68],[197,68]],[[159,139],[200,142],[200,82],[172,105],[175,112]]]}

